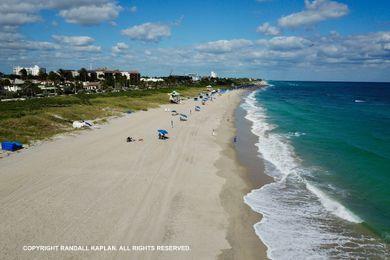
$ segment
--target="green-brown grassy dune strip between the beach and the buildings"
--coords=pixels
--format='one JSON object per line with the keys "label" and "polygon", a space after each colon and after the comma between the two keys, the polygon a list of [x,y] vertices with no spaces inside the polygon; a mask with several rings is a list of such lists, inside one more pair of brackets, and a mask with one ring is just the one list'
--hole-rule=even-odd
{"label": "green-brown grassy dune strip between the beach and the buildings", "polygon": [[73,130],[74,120],[96,120],[129,109],[158,107],[169,102],[167,93],[173,90],[191,97],[204,88],[176,87],[0,102],[0,142],[13,140],[30,143]]}

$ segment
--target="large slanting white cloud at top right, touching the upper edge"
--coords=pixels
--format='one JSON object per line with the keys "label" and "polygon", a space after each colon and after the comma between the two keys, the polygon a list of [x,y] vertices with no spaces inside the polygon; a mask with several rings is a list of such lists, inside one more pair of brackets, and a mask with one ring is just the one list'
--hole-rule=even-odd
{"label": "large slanting white cloud at top right, touching the upper edge", "polygon": [[311,25],[328,19],[335,19],[348,14],[348,6],[330,0],[305,0],[306,10],[281,17],[278,21],[282,27],[299,27]]}

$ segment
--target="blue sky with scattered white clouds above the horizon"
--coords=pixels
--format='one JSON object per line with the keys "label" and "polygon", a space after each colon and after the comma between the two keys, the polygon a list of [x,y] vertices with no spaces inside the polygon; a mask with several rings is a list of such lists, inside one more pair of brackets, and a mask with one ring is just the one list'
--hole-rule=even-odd
{"label": "blue sky with scattered white clouds above the horizon", "polygon": [[390,81],[389,0],[0,0],[0,71]]}

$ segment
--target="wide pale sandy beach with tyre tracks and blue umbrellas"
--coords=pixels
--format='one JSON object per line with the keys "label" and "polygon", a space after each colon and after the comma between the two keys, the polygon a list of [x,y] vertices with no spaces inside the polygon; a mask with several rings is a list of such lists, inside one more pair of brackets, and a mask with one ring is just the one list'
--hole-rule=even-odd
{"label": "wide pale sandy beach with tyre tracks and blue umbrellas", "polygon": [[[252,227],[260,216],[242,199],[250,178],[232,144],[240,93],[200,112],[187,100],[126,115],[0,159],[0,258],[265,258]],[[157,129],[170,138],[158,140]],[[127,143],[128,136],[143,141]],[[25,247],[53,245],[116,250]]]}

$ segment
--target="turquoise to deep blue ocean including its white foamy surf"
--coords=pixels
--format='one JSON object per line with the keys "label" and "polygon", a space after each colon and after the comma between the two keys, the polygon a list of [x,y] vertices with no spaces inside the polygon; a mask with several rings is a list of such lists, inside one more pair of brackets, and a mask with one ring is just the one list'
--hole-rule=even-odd
{"label": "turquoise to deep blue ocean including its white foamy surf", "polygon": [[244,197],[268,256],[390,258],[390,83],[269,84],[241,105],[274,179]]}

